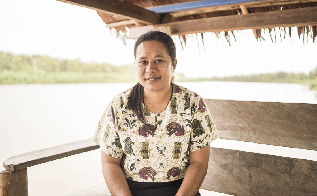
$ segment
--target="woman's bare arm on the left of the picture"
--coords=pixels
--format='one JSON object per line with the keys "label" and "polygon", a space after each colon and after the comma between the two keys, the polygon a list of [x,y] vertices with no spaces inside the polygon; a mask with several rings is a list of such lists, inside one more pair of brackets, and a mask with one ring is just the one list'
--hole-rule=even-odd
{"label": "woman's bare arm on the left of the picture", "polygon": [[112,195],[132,195],[120,167],[121,159],[113,158],[101,150],[102,174]]}

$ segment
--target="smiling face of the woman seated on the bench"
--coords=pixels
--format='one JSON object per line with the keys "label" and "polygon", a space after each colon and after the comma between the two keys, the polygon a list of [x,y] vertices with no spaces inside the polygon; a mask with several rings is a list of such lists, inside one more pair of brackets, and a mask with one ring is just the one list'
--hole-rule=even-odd
{"label": "smiling face of the woman seated on the bench", "polygon": [[171,62],[165,46],[159,41],[145,41],[139,44],[135,56],[135,69],[140,84],[149,91],[165,88],[175,70],[177,60]]}

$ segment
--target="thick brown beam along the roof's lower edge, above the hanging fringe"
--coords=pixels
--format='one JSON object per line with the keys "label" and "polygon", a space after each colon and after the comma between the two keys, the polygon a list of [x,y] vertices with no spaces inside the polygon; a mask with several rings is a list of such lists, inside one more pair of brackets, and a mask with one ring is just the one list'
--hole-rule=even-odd
{"label": "thick brown beam along the roof's lower edge, above the hanging fringe", "polygon": [[[262,29],[275,27],[293,27],[317,25],[317,7],[298,8],[290,10],[265,11],[242,15],[219,16],[185,20],[172,23],[153,25],[154,29],[170,25],[172,35],[191,33],[233,31],[243,29]],[[130,34],[140,36],[144,31],[141,27],[133,27]],[[138,33],[135,33],[138,32]]]}

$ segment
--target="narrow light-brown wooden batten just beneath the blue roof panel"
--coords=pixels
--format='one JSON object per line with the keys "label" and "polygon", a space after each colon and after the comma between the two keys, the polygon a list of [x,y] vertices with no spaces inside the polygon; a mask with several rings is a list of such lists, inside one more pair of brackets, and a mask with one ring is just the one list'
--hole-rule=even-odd
{"label": "narrow light-brown wooden batten just beneath the blue roof panel", "polygon": [[257,8],[257,7],[266,7],[266,6],[274,6],[274,5],[286,5],[286,4],[293,4],[293,3],[310,3],[310,2],[317,2],[317,0],[255,1],[255,2],[238,3],[238,4],[230,4],[230,5],[220,5],[220,6],[199,8],[199,9],[175,11],[175,12],[172,12],[171,15],[174,18],[178,18],[178,17],[182,17],[182,16],[202,14],[202,13],[208,13],[208,12],[214,12],[214,11],[237,10],[240,8],[240,5],[244,5],[244,6],[246,6],[246,8]]}

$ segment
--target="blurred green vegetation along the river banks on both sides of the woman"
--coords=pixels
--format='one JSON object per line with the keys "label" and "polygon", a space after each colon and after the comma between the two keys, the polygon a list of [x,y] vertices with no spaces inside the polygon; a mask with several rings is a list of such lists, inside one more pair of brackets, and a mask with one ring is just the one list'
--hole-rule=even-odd
{"label": "blurred green vegetation along the river banks on both sides of the woman", "polygon": [[[317,90],[317,68],[308,75],[280,72],[222,78],[186,78],[175,73],[175,82],[204,80],[302,83]],[[0,52],[0,84],[137,81],[133,65],[112,66],[108,63],[58,60],[48,56],[15,56]]]}

